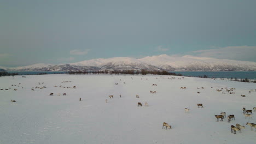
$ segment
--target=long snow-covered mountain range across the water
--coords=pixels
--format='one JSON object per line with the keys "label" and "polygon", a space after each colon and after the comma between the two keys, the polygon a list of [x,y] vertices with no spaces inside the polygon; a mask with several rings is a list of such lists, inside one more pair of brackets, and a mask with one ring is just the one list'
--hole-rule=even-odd
{"label": "long snow-covered mountain range across the water", "polygon": [[70,64],[34,64],[9,68],[16,71],[77,71],[77,70],[167,70],[167,71],[256,71],[255,62],[234,61],[194,56],[159,55],[141,59],[114,57],[90,59]]}

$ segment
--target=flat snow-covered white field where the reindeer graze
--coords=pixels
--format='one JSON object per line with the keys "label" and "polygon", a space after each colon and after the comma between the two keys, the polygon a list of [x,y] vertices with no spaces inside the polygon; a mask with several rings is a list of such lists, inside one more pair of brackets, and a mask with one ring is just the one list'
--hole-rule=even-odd
{"label": "flat snow-covered white field where the reindeer graze", "polygon": [[[250,110],[256,107],[256,83],[178,78],[67,74],[0,77],[0,89],[4,88],[0,91],[0,143],[256,143],[255,129],[246,125],[256,123],[256,113],[250,119],[242,113],[244,106]],[[67,88],[73,86],[76,88]],[[227,93],[225,87],[236,88],[235,94]],[[225,94],[216,91],[221,88]],[[248,93],[250,89],[254,92]],[[138,102],[143,106],[138,107]],[[144,106],[145,102],[149,106]],[[198,108],[198,103],[203,108]],[[185,107],[190,109],[188,113]],[[217,122],[214,115],[220,111],[235,115],[235,120]],[[172,129],[162,129],[163,122]],[[234,135],[230,125],[236,123],[245,129]]]}

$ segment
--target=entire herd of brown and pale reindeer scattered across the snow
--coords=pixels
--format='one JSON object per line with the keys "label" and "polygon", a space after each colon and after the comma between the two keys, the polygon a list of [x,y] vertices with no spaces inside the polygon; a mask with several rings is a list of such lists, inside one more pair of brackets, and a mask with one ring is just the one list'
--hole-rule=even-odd
{"label": "entire herd of brown and pale reindeer scattered across the snow", "polygon": [[[133,78],[131,78],[132,80],[133,80]],[[156,78],[156,79],[158,79],[158,78]],[[171,78],[169,78],[168,77],[168,79],[175,79],[175,77],[171,77]],[[178,78],[179,80],[181,80],[181,78]],[[184,79],[184,77],[182,77],[182,79]],[[120,79],[120,81],[121,81],[121,79]],[[62,83],[66,83],[66,82],[71,82],[71,81],[63,81]],[[19,83],[19,85],[20,85],[21,83]],[[40,85],[40,84],[43,84],[43,82],[38,82],[38,84]],[[125,84],[125,82],[124,82],[124,84]],[[17,87],[19,87],[19,85],[11,85],[11,86],[17,86]],[[118,83],[115,83],[115,85],[118,85]],[[156,85],[155,83],[153,83],[153,85],[152,86],[158,86],[158,85]],[[54,87],[62,87],[62,88],[76,88],[75,86],[73,86],[73,87],[64,87],[64,86],[54,86]],[[23,87],[22,87],[23,88]],[[34,89],[36,89],[36,88],[38,88],[38,89],[43,89],[43,88],[46,88],[45,86],[43,86],[43,87],[33,87],[33,88],[31,88],[31,90],[32,91],[34,91]],[[201,87],[201,89],[204,89],[205,87]],[[211,87],[211,88],[213,88],[213,87]],[[9,89],[11,89],[11,88],[9,88]],[[181,89],[187,89],[186,87],[181,87]],[[197,89],[200,89],[199,87],[197,87]],[[234,92],[232,92],[232,91],[234,91],[235,90],[235,88],[230,88],[230,89],[228,89],[228,88],[225,88],[226,89],[226,92],[227,93],[229,93],[229,94],[234,94]],[[0,89],[0,90],[3,90],[3,88],[2,89]],[[8,90],[8,88],[5,88],[5,90]],[[18,89],[17,88],[13,88],[13,91],[17,91]],[[223,92],[223,94],[225,94],[225,92],[224,92],[224,88],[221,88],[221,89],[216,89],[216,91],[217,92]],[[253,92],[254,90],[250,90],[249,91],[249,93],[251,93],[251,92]],[[256,89],[255,89],[255,91],[256,91]],[[154,94],[154,93],[156,93],[156,91],[149,91],[149,93],[152,93],[152,94]],[[197,94],[199,94],[200,92],[197,92]],[[51,95],[51,96],[53,96],[54,95],[54,93],[50,93],[49,95]],[[60,96],[61,94],[59,93],[59,94],[57,94],[58,96]],[[66,93],[62,93],[62,95],[66,95]],[[109,97],[109,99],[113,99],[114,98],[114,96],[113,95],[108,95],[108,97]],[[121,98],[121,94],[119,95],[119,97]],[[241,95],[241,97],[245,97],[245,95]],[[136,98],[139,98],[139,95],[138,94],[136,94]],[[81,101],[82,100],[82,98],[79,98],[79,101]],[[106,103],[108,102],[108,100],[106,99],[105,100],[106,101]],[[11,100],[11,102],[16,102],[15,100]],[[142,106],[142,103],[141,102],[138,102],[137,103],[137,106]],[[144,106],[148,106],[148,103],[146,102],[146,103],[144,103]],[[197,106],[198,106],[198,108],[200,108],[200,106],[201,106],[201,108],[203,108],[203,104],[197,104]],[[189,112],[190,111],[190,109],[188,109],[188,108],[185,108],[184,109],[184,112],[185,113],[187,113],[187,112]],[[253,107],[253,110],[246,110],[246,108],[245,107],[243,107],[243,109],[242,109],[242,113],[243,113],[243,115],[245,116],[245,118],[252,118],[252,115],[253,115],[253,111],[254,112],[256,112],[256,107]],[[226,112],[220,112],[220,115],[215,115],[215,117],[217,118],[217,122],[219,122],[219,119],[220,119],[220,121],[223,121],[223,119],[226,117]],[[235,115],[229,115],[228,116],[228,122],[230,122],[231,120],[235,120]],[[256,131],[256,124],[255,123],[249,123],[249,122],[247,122],[246,123],[246,125],[249,125],[250,127],[251,127],[251,130],[253,130],[253,128],[255,128],[255,131]],[[171,125],[170,124],[168,124],[168,123],[163,123],[162,124],[162,129],[171,129],[172,127],[171,127]],[[233,131],[234,131],[234,134],[236,134],[236,131],[240,131],[241,132],[241,129],[245,129],[245,126],[243,126],[243,125],[240,125],[240,124],[236,124],[236,127],[234,126],[234,125],[231,125],[231,133],[233,133]]]}

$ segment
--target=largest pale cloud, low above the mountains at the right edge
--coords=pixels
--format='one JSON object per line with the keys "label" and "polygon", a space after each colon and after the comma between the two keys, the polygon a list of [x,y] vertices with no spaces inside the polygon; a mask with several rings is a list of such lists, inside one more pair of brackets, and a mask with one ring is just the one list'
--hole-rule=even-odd
{"label": "largest pale cloud, low above the mountains at the right edge", "polygon": [[234,59],[237,61],[256,62],[256,46],[227,46],[216,47],[209,50],[199,50],[191,52],[197,57],[212,57],[218,59]]}

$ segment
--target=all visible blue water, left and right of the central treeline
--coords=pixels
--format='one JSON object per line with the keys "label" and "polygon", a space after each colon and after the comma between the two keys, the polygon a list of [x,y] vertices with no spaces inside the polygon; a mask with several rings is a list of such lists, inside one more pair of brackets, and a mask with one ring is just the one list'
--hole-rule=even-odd
{"label": "all visible blue water, left and right of the central treeline", "polygon": [[[19,75],[46,74],[66,74],[66,71],[7,71],[8,73],[18,73]],[[169,71],[171,73],[182,74],[183,76],[204,76],[215,78],[233,78],[256,80],[256,71]]]}

